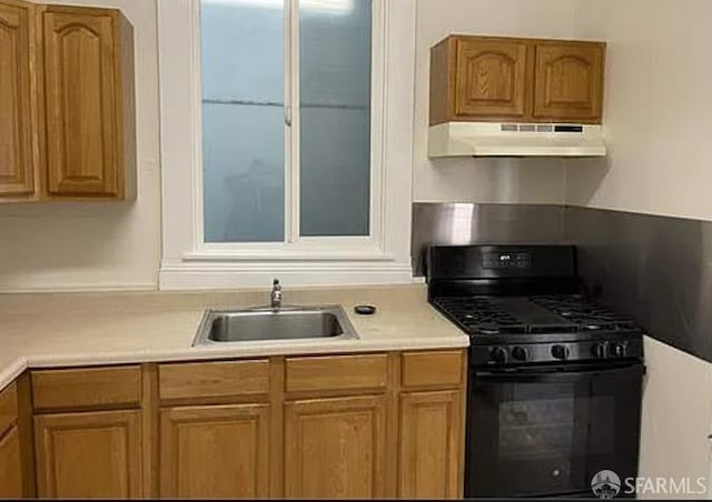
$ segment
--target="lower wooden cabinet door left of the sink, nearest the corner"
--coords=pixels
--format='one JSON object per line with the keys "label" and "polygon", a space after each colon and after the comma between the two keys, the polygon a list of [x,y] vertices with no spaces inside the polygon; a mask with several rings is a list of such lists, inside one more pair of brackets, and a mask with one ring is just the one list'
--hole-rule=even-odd
{"label": "lower wooden cabinet door left of the sink, nearest the corner", "polygon": [[34,416],[38,495],[141,496],[140,441],[139,411]]}

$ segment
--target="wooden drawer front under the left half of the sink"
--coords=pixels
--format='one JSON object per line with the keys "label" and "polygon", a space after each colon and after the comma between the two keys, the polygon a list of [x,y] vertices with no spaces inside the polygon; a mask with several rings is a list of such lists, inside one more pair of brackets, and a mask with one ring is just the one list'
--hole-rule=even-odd
{"label": "wooden drawer front under the left half of the sink", "polygon": [[158,388],[161,400],[267,394],[269,361],[161,364]]}

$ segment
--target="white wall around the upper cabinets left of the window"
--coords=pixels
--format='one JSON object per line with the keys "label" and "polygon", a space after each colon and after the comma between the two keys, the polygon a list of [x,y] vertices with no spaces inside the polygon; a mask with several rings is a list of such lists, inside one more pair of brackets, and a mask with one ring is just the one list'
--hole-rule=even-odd
{"label": "white wall around the upper cabinets left of the window", "polygon": [[63,3],[119,7],[134,24],[138,200],[0,205],[0,291],[156,288],[160,260],[156,2]]}

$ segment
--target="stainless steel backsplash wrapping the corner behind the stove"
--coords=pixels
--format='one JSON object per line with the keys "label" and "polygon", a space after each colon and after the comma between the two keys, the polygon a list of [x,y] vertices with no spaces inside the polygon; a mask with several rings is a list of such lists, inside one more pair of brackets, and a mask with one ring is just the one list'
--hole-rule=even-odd
{"label": "stainless steel backsplash wrapping the corner behind the stove", "polygon": [[576,244],[596,300],[712,362],[712,222],[555,204],[415,203],[416,275],[431,243]]}

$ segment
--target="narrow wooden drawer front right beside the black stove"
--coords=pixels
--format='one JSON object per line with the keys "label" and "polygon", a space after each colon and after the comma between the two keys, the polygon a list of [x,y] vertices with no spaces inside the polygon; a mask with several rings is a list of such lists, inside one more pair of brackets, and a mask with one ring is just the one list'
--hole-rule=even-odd
{"label": "narrow wooden drawer front right beside the black stove", "polygon": [[403,386],[457,386],[463,381],[463,352],[406,352]]}

